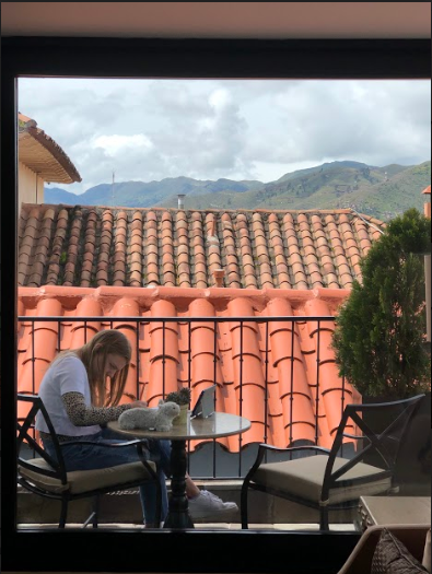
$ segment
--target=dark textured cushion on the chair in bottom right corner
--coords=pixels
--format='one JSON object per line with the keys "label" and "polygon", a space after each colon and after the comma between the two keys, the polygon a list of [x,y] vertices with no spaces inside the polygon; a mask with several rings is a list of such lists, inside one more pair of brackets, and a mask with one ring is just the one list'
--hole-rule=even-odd
{"label": "dark textured cushion on the chair in bottom right corner", "polygon": [[427,569],[400,540],[384,528],[372,559],[371,574],[421,574],[427,572]]}

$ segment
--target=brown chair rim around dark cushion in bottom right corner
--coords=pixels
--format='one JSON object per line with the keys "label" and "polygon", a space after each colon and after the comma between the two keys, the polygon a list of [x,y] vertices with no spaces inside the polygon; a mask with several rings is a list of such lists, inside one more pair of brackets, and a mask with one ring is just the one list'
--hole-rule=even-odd
{"label": "brown chair rim around dark cushion in bottom right corner", "polygon": [[369,574],[381,534],[387,528],[421,562],[429,526],[378,525],[367,528],[338,574]]}

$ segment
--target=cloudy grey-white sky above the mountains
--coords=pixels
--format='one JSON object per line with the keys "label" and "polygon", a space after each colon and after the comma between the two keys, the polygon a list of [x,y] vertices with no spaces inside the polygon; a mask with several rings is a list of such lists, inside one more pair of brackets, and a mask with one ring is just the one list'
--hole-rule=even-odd
{"label": "cloudy grey-white sky above the mountains", "polygon": [[259,179],[431,159],[429,81],[20,79],[19,109],[98,184]]}

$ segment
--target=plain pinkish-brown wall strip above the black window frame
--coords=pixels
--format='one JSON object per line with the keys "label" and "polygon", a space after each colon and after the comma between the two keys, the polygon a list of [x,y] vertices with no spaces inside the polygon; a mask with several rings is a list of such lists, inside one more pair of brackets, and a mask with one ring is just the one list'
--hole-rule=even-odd
{"label": "plain pinkish-brown wall strip above the black window frame", "polygon": [[430,2],[2,2],[3,36],[428,38]]}

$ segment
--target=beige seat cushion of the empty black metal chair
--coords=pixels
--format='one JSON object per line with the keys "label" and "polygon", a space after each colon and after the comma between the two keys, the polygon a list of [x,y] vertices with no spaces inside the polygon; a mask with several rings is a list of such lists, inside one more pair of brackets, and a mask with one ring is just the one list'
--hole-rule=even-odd
{"label": "beige seat cushion of the empty black metal chair", "polygon": [[[253,482],[276,489],[287,494],[299,496],[312,502],[320,501],[324,473],[328,456],[316,455],[296,458],[285,462],[268,462],[261,465],[253,477]],[[334,470],[338,470],[346,462],[345,458],[336,458]],[[341,480],[367,477],[382,469],[359,462],[341,477]],[[354,501],[360,496],[374,495],[386,492],[392,487],[392,479],[374,480],[367,484],[331,489],[329,504]]]}

